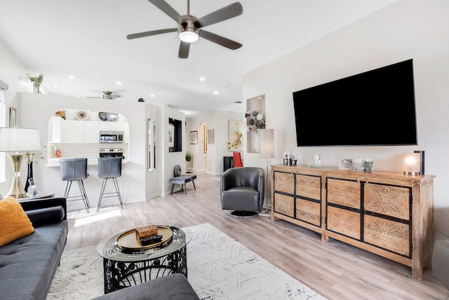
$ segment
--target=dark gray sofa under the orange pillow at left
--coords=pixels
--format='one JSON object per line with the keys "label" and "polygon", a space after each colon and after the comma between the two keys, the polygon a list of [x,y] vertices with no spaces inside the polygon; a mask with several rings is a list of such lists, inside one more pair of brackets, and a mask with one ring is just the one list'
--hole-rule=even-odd
{"label": "dark gray sofa under the orange pillow at left", "polygon": [[67,243],[65,198],[20,203],[34,232],[0,247],[0,298],[46,299]]}

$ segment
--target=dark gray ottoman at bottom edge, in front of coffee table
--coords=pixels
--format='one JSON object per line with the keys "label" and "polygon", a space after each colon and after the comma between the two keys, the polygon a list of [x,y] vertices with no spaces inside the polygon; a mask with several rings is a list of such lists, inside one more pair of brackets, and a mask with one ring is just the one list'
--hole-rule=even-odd
{"label": "dark gray ottoman at bottom edge, in front of coffee table", "polygon": [[133,299],[133,300],[199,300],[185,275],[171,274],[143,282],[140,285],[126,287],[118,291],[99,296],[94,300]]}

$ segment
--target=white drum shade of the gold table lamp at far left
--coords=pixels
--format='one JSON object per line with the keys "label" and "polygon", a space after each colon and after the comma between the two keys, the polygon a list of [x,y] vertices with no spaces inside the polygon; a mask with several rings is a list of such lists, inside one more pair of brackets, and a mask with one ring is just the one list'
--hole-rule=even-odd
{"label": "white drum shade of the gold table lamp at far left", "polygon": [[36,151],[41,149],[39,130],[0,128],[0,152]]}

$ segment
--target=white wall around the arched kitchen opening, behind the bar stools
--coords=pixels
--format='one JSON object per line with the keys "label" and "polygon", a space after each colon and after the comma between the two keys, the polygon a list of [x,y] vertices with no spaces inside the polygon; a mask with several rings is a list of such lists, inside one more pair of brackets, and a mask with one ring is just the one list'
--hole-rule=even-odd
{"label": "white wall around the arched kitchen opening, behind the bar stools", "polygon": [[[18,109],[20,127],[39,129],[41,144],[46,145],[48,119],[54,111],[60,109],[81,109],[112,111],[123,114],[128,118],[130,129],[129,162],[122,166],[122,176],[119,179],[121,194],[125,202],[146,200],[163,193],[154,179],[163,168],[156,168],[148,172],[146,150],[146,120],[156,115],[157,107],[142,102],[125,102],[116,100],[78,98],[60,95],[18,93],[11,104]],[[145,107],[145,109],[142,109]],[[156,126],[159,126],[156,123]],[[162,125],[161,125],[162,126]],[[157,127],[156,127],[157,130]],[[46,149],[44,149],[46,150]],[[44,157],[47,155],[44,154]],[[64,157],[64,151],[62,151]],[[26,175],[26,164],[22,164],[22,175]],[[160,164],[161,165],[161,164]],[[85,180],[86,191],[95,207],[100,194],[101,179],[98,178],[98,166],[88,166],[89,177]],[[8,174],[7,174],[8,176]],[[26,177],[25,177],[26,178]],[[23,180],[25,180],[23,178]],[[23,181],[22,180],[22,181]],[[34,183],[40,191],[51,191],[55,196],[62,197],[65,191],[65,182],[60,179],[58,167],[45,166],[45,161],[34,164]],[[166,183],[168,185],[168,182]],[[72,187],[76,189],[76,186]],[[6,194],[7,191],[2,191]],[[76,195],[73,191],[72,195]],[[114,203],[116,198],[105,199],[104,204]],[[69,203],[69,209],[83,207],[81,201]]]}

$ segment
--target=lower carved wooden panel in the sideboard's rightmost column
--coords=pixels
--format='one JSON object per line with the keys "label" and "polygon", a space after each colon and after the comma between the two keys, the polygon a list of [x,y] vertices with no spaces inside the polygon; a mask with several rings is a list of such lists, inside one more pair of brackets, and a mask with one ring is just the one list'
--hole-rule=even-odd
{"label": "lower carved wooden panel in the sideboard's rightmost column", "polygon": [[410,252],[408,224],[365,215],[365,242],[408,256]]}

